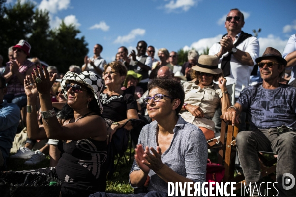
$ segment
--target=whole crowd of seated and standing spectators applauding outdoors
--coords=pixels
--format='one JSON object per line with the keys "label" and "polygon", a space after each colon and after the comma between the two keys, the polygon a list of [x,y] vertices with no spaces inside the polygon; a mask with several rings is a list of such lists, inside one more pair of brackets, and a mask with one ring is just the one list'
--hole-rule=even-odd
{"label": "whole crowd of seated and standing spectators applauding outdoors", "polygon": [[[167,182],[206,181],[206,141],[219,131],[223,115],[233,125],[240,119],[237,166],[250,191],[260,192],[255,186],[262,182],[257,151],[271,151],[278,158],[278,196],[296,197],[296,186],[283,187],[285,173],[296,177],[296,34],[283,54],[267,47],[259,57],[258,39],[242,31],[244,23],[243,13],[231,9],[220,42],[208,55],[188,51],[182,66],[175,51],[160,48],[158,60],[155,48],[142,40],[137,52],[119,47],[110,63],[96,44],[84,65],[61,74],[58,66],[29,59],[31,45],[20,40],[8,49],[5,66],[0,55],[0,170],[7,169],[21,125],[28,137],[10,159],[27,159],[34,167],[49,153],[50,166],[16,173],[57,177],[62,197],[124,196],[105,193],[106,178],[136,128],[128,120],[141,119],[146,125],[135,137],[129,181],[147,192],[133,196],[165,197]],[[259,73],[255,85],[249,85],[252,73]],[[40,140],[46,144],[33,151]]]}

